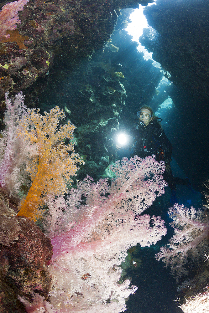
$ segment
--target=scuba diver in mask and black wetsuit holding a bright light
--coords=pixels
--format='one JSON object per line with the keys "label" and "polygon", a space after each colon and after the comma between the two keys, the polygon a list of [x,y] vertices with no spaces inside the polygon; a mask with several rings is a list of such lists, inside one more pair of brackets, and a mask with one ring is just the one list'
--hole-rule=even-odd
{"label": "scuba diver in mask and black wetsuit holding a bright light", "polygon": [[[134,145],[130,157],[138,155],[141,158],[145,158],[146,156],[152,156],[154,154],[156,161],[164,161],[166,168],[163,177],[171,189],[170,202],[172,204],[178,203],[176,199],[176,185],[185,185],[192,192],[195,191],[191,187],[189,178],[182,179],[180,177],[173,177],[170,167],[172,145],[160,125],[162,119],[155,116],[152,109],[146,105],[140,108],[137,112],[137,116],[139,122],[131,133],[136,144]],[[120,149],[122,146],[117,144],[116,148]]]}

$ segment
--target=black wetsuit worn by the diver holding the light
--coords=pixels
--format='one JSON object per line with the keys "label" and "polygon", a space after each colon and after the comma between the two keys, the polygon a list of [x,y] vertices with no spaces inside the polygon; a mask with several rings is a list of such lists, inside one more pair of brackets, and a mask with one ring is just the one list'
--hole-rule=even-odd
{"label": "black wetsuit worn by the diver holding the light", "polygon": [[132,132],[132,136],[135,138],[136,144],[131,156],[138,155],[141,158],[145,158],[154,154],[156,161],[165,161],[166,170],[163,173],[163,177],[171,190],[176,190],[176,184],[186,185],[188,183],[180,177],[173,177],[170,167],[172,145],[159,124],[158,118],[145,127],[137,125]]}

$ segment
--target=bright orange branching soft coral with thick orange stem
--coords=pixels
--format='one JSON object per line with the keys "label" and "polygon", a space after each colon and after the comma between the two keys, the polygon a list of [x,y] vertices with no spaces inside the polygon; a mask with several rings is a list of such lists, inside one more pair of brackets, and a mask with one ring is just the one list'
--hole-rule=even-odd
{"label": "bright orange branching soft coral with thick orange stem", "polygon": [[[32,179],[32,186],[27,197],[19,205],[18,215],[36,220],[41,216],[39,208],[46,202],[47,195],[64,195],[66,184],[75,175],[77,163],[83,163],[82,158],[75,153],[75,126],[68,121],[59,125],[59,120],[65,117],[64,111],[58,106],[44,116],[38,110],[29,110],[24,117],[18,136],[37,146],[37,155],[27,166]],[[68,139],[68,144],[65,144]]]}

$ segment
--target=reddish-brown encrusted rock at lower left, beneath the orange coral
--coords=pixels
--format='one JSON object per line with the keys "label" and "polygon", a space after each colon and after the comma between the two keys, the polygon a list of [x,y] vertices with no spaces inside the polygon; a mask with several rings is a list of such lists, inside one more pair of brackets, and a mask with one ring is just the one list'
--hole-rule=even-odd
{"label": "reddish-brown encrusted rock at lower left, beneath the orange coral", "polygon": [[45,264],[52,245],[34,222],[16,217],[19,199],[0,188],[0,312],[26,313],[18,295],[30,299],[38,292],[46,299],[51,275]]}

